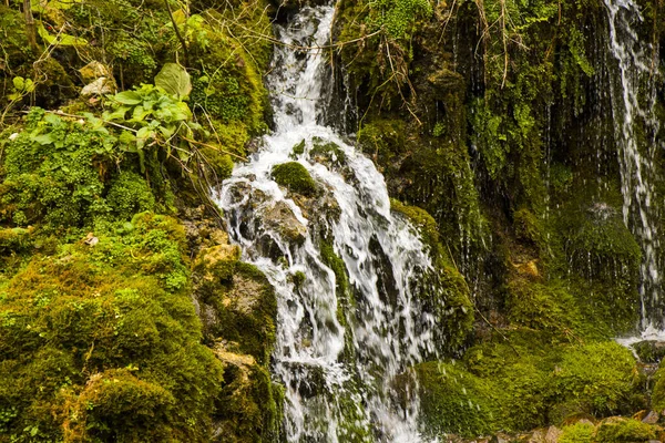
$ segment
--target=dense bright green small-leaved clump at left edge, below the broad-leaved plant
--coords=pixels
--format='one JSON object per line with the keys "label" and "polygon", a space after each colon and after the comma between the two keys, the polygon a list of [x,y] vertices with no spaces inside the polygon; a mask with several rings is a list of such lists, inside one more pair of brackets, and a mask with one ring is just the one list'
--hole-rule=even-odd
{"label": "dense bright green small-leaved clump at left edge, below the broad-leaved plant", "polygon": [[105,215],[102,174],[121,156],[114,137],[39,109],[29,122],[6,148],[3,218],[63,228]]}

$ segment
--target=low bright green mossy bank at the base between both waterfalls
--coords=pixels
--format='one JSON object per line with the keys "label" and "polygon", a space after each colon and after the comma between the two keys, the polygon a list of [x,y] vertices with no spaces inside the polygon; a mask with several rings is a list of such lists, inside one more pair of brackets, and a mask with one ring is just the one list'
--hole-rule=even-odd
{"label": "low bright green mossy bank at the base between both waterfalls", "polygon": [[[625,348],[536,340],[533,332],[513,333],[509,343],[469,349],[461,362],[418,365],[426,429],[433,435],[477,436],[626,413],[645,404],[636,363]],[[574,439],[586,430],[577,425],[566,433]]]}

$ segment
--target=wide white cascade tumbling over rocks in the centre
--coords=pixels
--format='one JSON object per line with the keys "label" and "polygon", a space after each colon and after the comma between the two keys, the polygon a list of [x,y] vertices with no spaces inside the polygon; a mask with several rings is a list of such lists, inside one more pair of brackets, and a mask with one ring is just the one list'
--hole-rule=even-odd
{"label": "wide white cascade tumbling over rocks in the centre", "polygon": [[[286,44],[276,48],[268,78],[276,130],[249,163],[234,169],[218,203],[243,258],[276,289],[273,372],[286,388],[286,440],[420,442],[418,396],[397,387],[416,391],[409,368],[436,352],[433,318],[416,296],[431,264],[415,230],[391,214],[372,162],[317,124],[321,85],[329,81],[326,54],[293,47],[327,44],[332,16],[331,7],[303,8],[287,25],[276,27]],[[304,152],[294,154],[303,141]],[[313,154],[328,142],[344,155],[320,161]],[[294,159],[321,188],[314,198],[296,198],[300,206],[270,177],[275,165]],[[283,216],[277,223],[270,215],[276,209]],[[289,226],[299,230],[299,241],[289,240]],[[344,260],[346,293],[336,292],[323,237]],[[299,286],[298,272],[305,275]]]}

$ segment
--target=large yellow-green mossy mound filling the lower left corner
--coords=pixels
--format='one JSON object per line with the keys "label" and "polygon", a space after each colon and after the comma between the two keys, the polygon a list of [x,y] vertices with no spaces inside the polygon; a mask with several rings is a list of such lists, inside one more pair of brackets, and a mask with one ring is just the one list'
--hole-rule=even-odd
{"label": "large yellow-green mossy mound filling the lower left corner", "polygon": [[17,439],[207,441],[223,370],[201,344],[184,229],[140,214],[122,233],[35,255],[1,289],[0,409],[17,409]]}

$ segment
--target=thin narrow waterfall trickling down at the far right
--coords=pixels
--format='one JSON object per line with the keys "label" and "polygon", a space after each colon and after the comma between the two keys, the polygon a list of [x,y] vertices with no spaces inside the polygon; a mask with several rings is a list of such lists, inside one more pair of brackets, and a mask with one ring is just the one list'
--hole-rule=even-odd
{"label": "thin narrow waterfall trickling down at the far right", "polygon": [[661,300],[661,259],[658,202],[654,185],[654,157],[659,124],[656,103],[655,48],[641,39],[636,24],[643,22],[633,0],[604,0],[610,24],[610,53],[617,62],[613,71],[612,107],[615,138],[621,163],[621,190],[624,223],[642,247],[641,287],[642,331],[651,333],[665,327]]}

